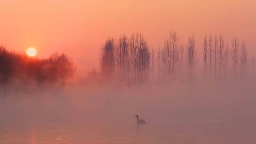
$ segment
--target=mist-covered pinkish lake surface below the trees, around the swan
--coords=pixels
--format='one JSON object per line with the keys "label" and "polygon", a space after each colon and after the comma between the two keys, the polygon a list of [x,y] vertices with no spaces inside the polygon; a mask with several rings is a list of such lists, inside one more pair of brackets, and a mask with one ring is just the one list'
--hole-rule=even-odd
{"label": "mist-covered pinkish lake surface below the trees, around the swan", "polygon": [[255,92],[241,83],[5,91],[0,143],[253,144]]}

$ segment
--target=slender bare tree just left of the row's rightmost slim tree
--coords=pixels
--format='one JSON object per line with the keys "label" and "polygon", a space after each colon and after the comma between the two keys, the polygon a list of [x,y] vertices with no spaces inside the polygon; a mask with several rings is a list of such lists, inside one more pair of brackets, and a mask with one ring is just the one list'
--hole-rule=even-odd
{"label": "slender bare tree just left of the row's rightmost slim tree", "polygon": [[238,65],[238,52],[239,51],[239,42],[238,39],[235,38],[232,41],[232,51],[231,51],[231,57],[233,61],[233,71],[234,71],[234,79],[236,80],[236,70]]}

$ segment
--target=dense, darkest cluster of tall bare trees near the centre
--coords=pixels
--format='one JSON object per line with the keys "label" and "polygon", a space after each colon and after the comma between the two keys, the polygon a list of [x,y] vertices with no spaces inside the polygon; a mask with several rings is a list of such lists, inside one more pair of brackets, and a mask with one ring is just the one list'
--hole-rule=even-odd
{"label": "dense, darkest cluster of tall bare trees near the centre", "polygon": [[101,49],[101,73],[104,78],[144,82],[149,75],[150,50],[141,33],[107,38]]}

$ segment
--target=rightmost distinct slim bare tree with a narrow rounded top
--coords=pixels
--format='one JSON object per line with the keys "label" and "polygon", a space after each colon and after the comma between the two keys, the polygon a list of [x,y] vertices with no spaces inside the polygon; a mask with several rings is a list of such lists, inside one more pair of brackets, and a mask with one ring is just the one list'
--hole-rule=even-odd
{"label": "rightmost distinct slim bare tree with a narrow rounded top", "polygon": [[243,78],[246,74],[247,70],[247,48],[246,44],[243,42],[241,46],[241,53],[240,53],[240,75]]}

